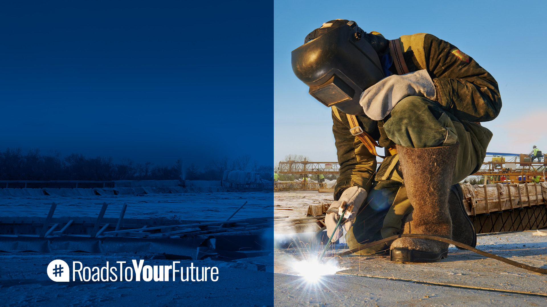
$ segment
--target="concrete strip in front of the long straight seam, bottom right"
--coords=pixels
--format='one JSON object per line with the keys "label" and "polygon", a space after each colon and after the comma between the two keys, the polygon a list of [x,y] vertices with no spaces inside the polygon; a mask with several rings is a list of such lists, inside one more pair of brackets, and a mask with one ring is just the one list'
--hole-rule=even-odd
{"label": "concrete strip in front of the long straight seam, bottom right", "polygon": [[329,275],[316,285],[275,274],[275,306],[545,306],[547,298],[412,282]]}

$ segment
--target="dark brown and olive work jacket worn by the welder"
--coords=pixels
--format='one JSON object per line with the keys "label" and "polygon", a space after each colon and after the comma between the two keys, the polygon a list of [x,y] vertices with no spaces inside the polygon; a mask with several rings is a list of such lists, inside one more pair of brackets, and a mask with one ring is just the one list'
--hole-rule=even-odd
{"label": "dark brown and olive work jacket worn by the welder", "polygon": [[[372,32],[381,35],[377,32]],[[472,57],[464,54],[456,46],[431,34],[417,33],[399,38],[403,58],[409,72],[426,69],[431,76],[437,92],[437,101],[441,108],[456,116],[460,121],[491,121],[502,107],[496,80]],[[397,74],[394,66],[390,68]],[[350,186],[359,186],[367,192],[373,182],[400,176],[394,170],[393,156],[387,157],[378,172],[376,157],[366,146],[350,133],[350,124],[346,114],[338,109],[332,111],[333,133],[340,164],[340,176],[335,186],[334,199]],[[383,132],[383,122],[371,120],[366,115],[357,115],[360,127],[383,147],[395,144]],[[475,125],[481,129],[481,126]],[[467,130],[468,127],[466,126]],[[481,151],[482,159],[486,154],[486,144],[475,144]],[[478,169],[475,169],[475,172]],[[401,180],[402,181],[402,180]]]}

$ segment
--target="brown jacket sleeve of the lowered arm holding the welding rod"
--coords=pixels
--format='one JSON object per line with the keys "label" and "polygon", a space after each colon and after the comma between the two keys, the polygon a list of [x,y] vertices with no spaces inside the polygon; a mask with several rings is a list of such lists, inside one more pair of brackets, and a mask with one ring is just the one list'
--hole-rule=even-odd
{"label": "brown jacket sleeve of the lowered arm holding the welding rod", "polygon": [[334,200],[338,200],[342,192],[351,186],[359,186],[369,192],[376,170],[376,157],[358,138],[351,135],[349,128],[334,115],[334,112],[333,122],[336,154],[340,165],[340,176],[336,179],[334,188]]}

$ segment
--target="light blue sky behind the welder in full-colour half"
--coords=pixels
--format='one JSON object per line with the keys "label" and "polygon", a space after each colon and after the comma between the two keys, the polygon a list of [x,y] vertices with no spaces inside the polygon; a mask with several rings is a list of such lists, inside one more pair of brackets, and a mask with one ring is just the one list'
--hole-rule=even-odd
{"label": "light blue sky behind the welder in full-colour half", "polygon": [[388,39],[430,33],[473,57],[498,81],[503,108],[483,125],[488,151],[547,151],[544,88],[547,4],[540,1],[280,1],[274,4],[274,163],[285,155],[336,161],[330,110],[290,67],[290,51],[323,22],[356,21]]}

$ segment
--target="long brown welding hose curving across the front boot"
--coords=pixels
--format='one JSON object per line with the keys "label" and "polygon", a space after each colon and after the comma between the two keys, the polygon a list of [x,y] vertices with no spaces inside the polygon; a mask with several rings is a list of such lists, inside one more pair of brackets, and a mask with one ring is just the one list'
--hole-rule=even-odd
{"label": "long brown welding hose curving across the front boot", "polygon": [[368,244],[364,244],[362,246],[356,247],[355,249],[352,249],[352,250],[349,250],[349,251],[337,253],[335,256],[344,257],[344,256],[347,256],[347,255],[351,255],[354,252],[358,252],[360,250],[368,249],[371,246],[380,245],[382,243],[386,243],[388,241],[392,241],[392,240],[395,240],[395,239],[398,239],[398,238],[416,238],[416,239],[437,240],[437,241],[441,241],[441,242],[444,242],[444,243],[448,243],[448,244],[452,244],[452,245],[462,247],[463,249],[476,252],[476,253],[478,253],[479,255],[482,255],[482,256],[486,256],[486,257],[496,259],[496,260],[499,260],[501,262],[504,262],[504,263],[507,263],[507,264],[510,264],[510,265],[514,265],[517,268],[533,271],[533,272],[536,272],[536,273],[547,274],[547,269],[536,268],[536,267],[532,267],[531,265],[527,265],[527,264],[519,263],[519,262],[516,262],[516,261],[513,261],[513,260],[509,260],[507,258],[498,256],[498,255],[494,255],[493,253],[488,253],[488,252],[485,252],[485,251],[481,251],[481,250],[475,249],[475,247],[472,247],[472,246],[469,246],[469,245],[466,245],[466,244],[463,244],[463,243],[459,243],[459,242],[456,242],[456,241],[453,241],[453,240],[450,240],[450,239],[436,237],[435,235],[417,234],[417,233],[393,235],[392,237],[382,239],[382,240],[378,240],[378,241],[374,241],[374,242],[371,242],[371,243],[368,243]]}

